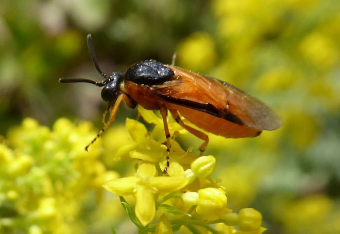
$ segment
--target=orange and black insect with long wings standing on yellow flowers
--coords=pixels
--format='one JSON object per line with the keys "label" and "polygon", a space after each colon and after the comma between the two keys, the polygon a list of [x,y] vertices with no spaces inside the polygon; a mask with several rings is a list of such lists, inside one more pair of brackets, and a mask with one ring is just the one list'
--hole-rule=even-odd
{"label": "orange and black insect with long wings standing on yellow flowers", "polygon": [[[208,135],[186,125],[180,116],[207,132],[227,138],[255,137],[262,130],[274,130],[283,123],[282,118],[271,108],[244,91],[213,77],[176,67],[174,62],[165,65],[155,60],[141,61],[133,64],[126,72],[113,72],[108,76],[98,65],[91,35],[87,35],[87,46],[94,66],[104,80],[97,82],[82,78],[59,79],[60,83],[84,82],[102,87],[102,99],[108,103],[103,115],[104,126],[85,146],[86,151],[114,121],[121,102],[130,108],[140,105],[146,109],[160,111],[167,139],[165,173],[170,166],[168,110],[179,125],[204,140],[199,147],[201,155],[209,142]],[[110,115],[105,123],[108,111]]]}

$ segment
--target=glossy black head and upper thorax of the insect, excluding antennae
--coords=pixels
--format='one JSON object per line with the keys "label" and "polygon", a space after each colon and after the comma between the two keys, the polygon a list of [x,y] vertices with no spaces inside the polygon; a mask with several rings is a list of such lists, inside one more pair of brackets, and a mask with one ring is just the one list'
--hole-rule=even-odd
{"label": "glossy black head and upper thorax of the insect, excluding antennae", "polygon": [[138,62],[132,65],[125,73],[113,72],[102,82],[104,84],[102,99],[109,105],[114,104],[121,93],[120,84],[124,80],[152,86],[172,79],[173,75],[174,73],[169,67],[155,60]]}

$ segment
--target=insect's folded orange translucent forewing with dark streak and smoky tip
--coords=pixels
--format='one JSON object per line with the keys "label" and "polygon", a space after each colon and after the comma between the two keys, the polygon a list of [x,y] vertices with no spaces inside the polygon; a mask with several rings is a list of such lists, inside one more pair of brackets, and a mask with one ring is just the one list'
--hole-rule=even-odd
{"label": "insect's folded orange translucent forewing with dark streak and smoky tip", "polygon": [[274,130],[281,117],[260,100],[218,79],[174,66],[174,79],[154,85],[154,94],[165,102],[196,109],[238,125]]}

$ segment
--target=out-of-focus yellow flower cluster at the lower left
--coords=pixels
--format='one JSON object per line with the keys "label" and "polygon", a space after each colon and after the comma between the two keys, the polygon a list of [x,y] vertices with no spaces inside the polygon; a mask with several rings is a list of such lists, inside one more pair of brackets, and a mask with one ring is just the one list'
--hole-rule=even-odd
{"label": "out-of-focus yellow flower cluster at the lower left", "polygon": [[27,118],[0,143],[0,233],[84,233],[81,210],[101,198],[102,184],[117,178],[100,161],[101,150],[84,145],[89,123],[57,120],[50,130]]}

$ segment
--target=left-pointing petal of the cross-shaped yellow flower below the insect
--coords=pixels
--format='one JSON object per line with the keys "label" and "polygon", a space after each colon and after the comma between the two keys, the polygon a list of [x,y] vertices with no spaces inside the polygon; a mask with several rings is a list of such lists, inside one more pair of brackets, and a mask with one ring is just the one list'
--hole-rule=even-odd
{"label": "left-pointing petal of the cross-shaped yellow flower below the insect", "polygon": [[132,195],[136,188],[136,177],[125,177],[116,180],[110,180],[103,187],[118,196]]}

